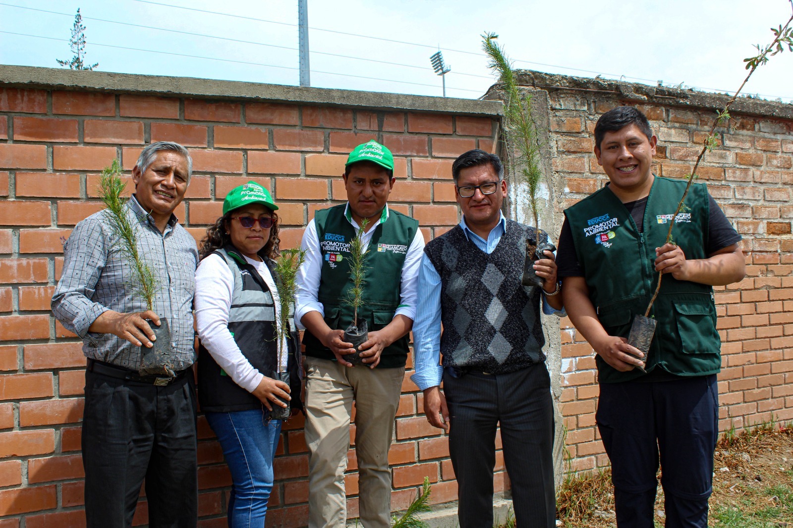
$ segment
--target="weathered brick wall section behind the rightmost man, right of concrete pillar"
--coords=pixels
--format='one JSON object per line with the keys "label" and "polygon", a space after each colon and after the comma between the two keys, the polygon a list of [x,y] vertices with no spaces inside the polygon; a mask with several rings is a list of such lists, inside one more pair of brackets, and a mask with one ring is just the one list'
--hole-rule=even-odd
{"label": "weathered brick wall section behind the rightmost man, right of concrete pillar", "polygon": [[[539,84],[551,84],[558,77],[543,79],[534,72]],[[713,124],[714,108],[692,105],[685,90],[668,90],[668,97],[654,100],[649,94],[649,101],[641,102],[615,93],[615,87],[605,83],[569,79],[567,84],[568,78],[562,78],[563,86],[572,89],[543,86],[550,101],[554,178],[565,187],[560,212],[607,182],[592,153],[593,132],[598,117],[615,106],[637,105],[649,118],[658,136],[655,174],[685,178],[691,173]],[[780,110],[790,115],[789,105],[760,106],[769,116],[786,115]],[[715,288],[722,338],[722,431],[771,419],[793,420],[793,120],[760,112],[732,114],[733,128],[717,130],[722,144],[706,155],[697,171],[744,237],[747,265],[743,281]],[[569,429],[571,465],[577,470],[607,465],[595,427],[599,389],[594,352],[569,319],[563,319],[561,327],[560,409]]]}

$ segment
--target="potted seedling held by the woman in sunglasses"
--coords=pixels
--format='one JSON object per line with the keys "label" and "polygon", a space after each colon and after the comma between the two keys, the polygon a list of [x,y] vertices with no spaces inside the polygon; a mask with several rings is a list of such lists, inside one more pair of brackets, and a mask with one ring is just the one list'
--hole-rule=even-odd
{"label": "potted seedling held by the woman in sunglasses", "polygon": [[[274,379],[283,381],[289,385],[289,369],[287,366],[287,358],[289,354],[289,347],[287,341],[291,342],[295,354],[300,350],[300,342],[297,339],[297,328],[294,325],[294,298],[296,289],[297,271],[303,266],[305,261],[305,250],[282,250],[281,255],[275,260],[275,281],[278,284],[278,365],[277,371],[272,373]],[[297,361],[297,358],[296,358]],[[289,401],[279,398],[286,407],[273,406],[273,411],[270,416],[273,419],[285,420],[292,415]]]}

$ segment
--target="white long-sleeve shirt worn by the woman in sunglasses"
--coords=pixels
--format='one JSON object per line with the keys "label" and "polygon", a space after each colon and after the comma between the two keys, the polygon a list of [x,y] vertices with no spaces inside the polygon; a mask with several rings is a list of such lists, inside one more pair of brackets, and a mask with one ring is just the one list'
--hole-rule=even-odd
{"label": "white long-sleeve shirt worn by the woman in sunglasses", "polygon": [[[275,303],[276,328],[281,327],[278,307],[281,299],[270,269],[264,262],[257,262],[245,257],[245,260],[256,268],[259,276],[265,281]],[[239,350],[232,333],[228,331],[228,312],[232,306],[234,292],[234,274],[226,261],[218,254],[210,254],[204,258],[196,270],[196,293],[193,306],[196,314],[198,338],[209,350],[215,362],[232,378],[232,381],[248,392],[253,392],[262,381],[265,373],[260,373]],[[285,349],[286,340],[281,345]],[[286,370],[286,354],[283,354],[278,369]],[[269,375],[270,373],[266,373]]]}

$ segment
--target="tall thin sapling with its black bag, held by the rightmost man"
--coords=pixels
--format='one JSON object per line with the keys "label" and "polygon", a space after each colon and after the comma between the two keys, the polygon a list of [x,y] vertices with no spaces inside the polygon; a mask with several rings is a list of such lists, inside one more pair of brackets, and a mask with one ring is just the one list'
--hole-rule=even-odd
{"label": "tall thin sapling with its black bag, held by the rightmost man", "polygon": [[[749,78],[757,70],[757,67],[767,63],[769,56],[783,52],[785,47],[793,52],[793,28],[790,27],[791,21],[793,21],[793,15],[787,19],[787,23],[784,25],[784,27],[780,25],[779,28],[771,28],[771,31],[774,33],[775,37],[774,40],[772,40],[772,43],[768,44],[768,46],[765,48],[761,48],[760,44],[757,44],[755,48],[757,48],[757,51],[760,52],[760,54],[749,57],[748,59],[744,59],[744,62],[746,63],[746,69],[749,70],[749,73],[746,75],[746,78],[741,83],[741,86],[735,92],[733,97],[730,98],[730,101],[727,101],[724,109],[718,111],[718,116],[714,120],[711,130],[707,133],[707,136],[703,141],[703,147],[702,150],[699,151],[699,155],[697,156],[696,162],[694,163],[694,169],[691,170],[691,174],[688,176],[688,185],[686,186],[686,189],[683,193],[683,197],[680,198],[680,203],[677,204],[677,209],[675,210],[674,214],[672,214],[671,220],[669,221],[669,231],[666,235],[666,243],[674,243],[672,229],[675,227],[677,215],[680,213],[680,211],[688,210],[688,206],[685,205],[685,199],[688,195],[688,189],[691,189],[691,183],[694,181],[694,178],[696,178],[696,170],[699,167],[699,162],[702,161],[707,151],[711,151],[714,149],[714,147],[718,146],[718,135],[714,133],[716,127],[718,127],[720,124],[726,124],[730,120],[730,106],[735,102],[738,94],[741,93],[741,90],[743,90],[746,82],[749,81]],[[649,300],[645,314],[644,316],[637,315],[634,317],[634,321],[630,327],[630,334],[628,335],[628,344],[635,346],[638,348],[638,350],[642,350],[642,353],[645,354],[643,358],[645,363],[647,362],[649,346],[653,341],[653,334],[655,333],[655,327],[657,324],[657,321],[649,316],[649,312],[650,309],[653,308],[653,303],[658,297],[658,292],[661,290],[661,279],[663,277],[663,274],[658,274],[658,282],[655,287],[655,292],[653,293],[653,297]],[[642,367],[637,367],[637,369],[645,372]]]}

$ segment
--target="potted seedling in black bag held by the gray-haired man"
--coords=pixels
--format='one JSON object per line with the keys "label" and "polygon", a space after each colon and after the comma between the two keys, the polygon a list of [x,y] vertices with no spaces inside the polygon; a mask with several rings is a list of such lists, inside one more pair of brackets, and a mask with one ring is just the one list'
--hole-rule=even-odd
{"label": "potted seedling in black bag held by the gray-haired man", "polygon": [[[129,218],[129,210],[125,207],[128,198],[121,195],[126,188],[125,182],[121,181],[121,166],[117,159],[109,167],[102,169],[102,181],[100,183],[100,194],[102,202],[105,204],[105,211],[109,218],[110,228],[113,230],[113,248],[119,251],[122,258],[128,262],[132,268],[132,280],[134,293],[146,301],[148,310],[154,309],[154,297],[159,289],[157,279],[151,271],[151,266],[144,260],[144,254],[138,249],[137,244],[137,222]],[[167,376],[174,377],[173,364],[170,354],[170,329],[168,319],[159,318],[159,326],[153,324],[150,319],[147,323],[154,332],[154,344],[140,346],[140,369],[141,376]]]}

